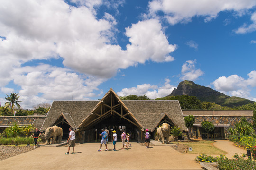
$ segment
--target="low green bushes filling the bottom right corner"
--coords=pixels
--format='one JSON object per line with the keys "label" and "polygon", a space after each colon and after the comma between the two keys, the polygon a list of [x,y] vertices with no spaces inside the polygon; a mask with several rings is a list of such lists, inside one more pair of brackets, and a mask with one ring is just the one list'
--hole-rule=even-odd
{"label": "low green bushes filling the bottom right corner", "polygon": [[235,159],[219,159],[219,170],[255,170],[256,162],[245,159],[244,156],[235,156]]}

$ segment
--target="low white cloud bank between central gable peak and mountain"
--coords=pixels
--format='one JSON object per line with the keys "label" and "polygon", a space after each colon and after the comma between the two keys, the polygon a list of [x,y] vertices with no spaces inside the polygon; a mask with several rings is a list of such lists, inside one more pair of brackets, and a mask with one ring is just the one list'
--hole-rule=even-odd
{"label": "low white cloud bank between central gable peak and mountain", "polygon": [[122,91],[117,92],[119,96],[146,95],[150,99],[165,97],[172,93],[174,86],[170,85],[170,80],[165,79],[165,85],[158,87],[157,85],[143,84],[137,85],[136,87],[124,88]]}

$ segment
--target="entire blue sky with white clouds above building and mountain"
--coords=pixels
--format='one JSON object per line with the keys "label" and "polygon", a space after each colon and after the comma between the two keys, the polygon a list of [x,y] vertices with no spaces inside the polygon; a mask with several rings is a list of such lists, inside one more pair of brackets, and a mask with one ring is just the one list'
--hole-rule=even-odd
{"label": "entire blue sky with white clouds above building and mountain", "polygon": [[256,101],[255,0],[1,0],[0,102],[165,97],[183,80]]}

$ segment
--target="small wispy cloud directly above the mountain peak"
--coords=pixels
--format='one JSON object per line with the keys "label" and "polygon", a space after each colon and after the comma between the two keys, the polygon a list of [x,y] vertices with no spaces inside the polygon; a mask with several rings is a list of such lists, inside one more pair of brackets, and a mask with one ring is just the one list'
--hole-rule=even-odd
{"label": "small wispy cloud directly above the mountain peak", "polygon": [[191,80],[194,81],[198,77],[202,76],[204,73],[201,71],[201,69],[195,68],[196,59],[195,60],[188,60],[186,61],[181,70],[181,80]]}

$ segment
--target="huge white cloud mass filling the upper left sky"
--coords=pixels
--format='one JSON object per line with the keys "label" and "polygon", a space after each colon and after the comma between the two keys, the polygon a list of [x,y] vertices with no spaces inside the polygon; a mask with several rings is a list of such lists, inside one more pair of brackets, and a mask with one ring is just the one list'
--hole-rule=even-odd
{"label": "huge white cloud mass filling the upper left sky", "polygon": [[[157,19],[143,20],[126,28],[129,43],[123,50],[115,37],[117,21],[101,5],[103,0],[31,1],[8,0],[0,5],[0,87],[13,81],[27,106],[50,100],[82,100],[120,69],[145,63],[170,62],[176,45],[169,44]],[[38,64],[62,59],[64,68]],[[35,66],[27,66],[31,61]],[[10,89],[9,89],[10,90]],[[2,88],[2,92],[8,89]],[[28,97],[29,96],[29,97]],[[41,100],[41,101],[40,101]]]}

